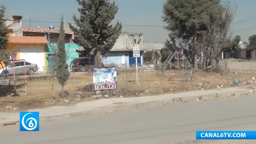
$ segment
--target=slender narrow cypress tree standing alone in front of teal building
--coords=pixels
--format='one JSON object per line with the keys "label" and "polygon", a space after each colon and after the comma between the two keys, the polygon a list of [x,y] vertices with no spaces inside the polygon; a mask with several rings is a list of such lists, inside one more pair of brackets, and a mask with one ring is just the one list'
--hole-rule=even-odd
{"label": "slender narrow cypress tree standing alone in front of teal building", "polygon": [[70,76],[68,71],[68,65],[66,63],[66,49],[65,49],[65,32],[63,28],[63,16],[61,16],[60,34],[58,39],[58,51],[57,51],[57,63],[56,63],[56,77],[59,84],[62,85],[61,97],[64,95],[64,85]]}

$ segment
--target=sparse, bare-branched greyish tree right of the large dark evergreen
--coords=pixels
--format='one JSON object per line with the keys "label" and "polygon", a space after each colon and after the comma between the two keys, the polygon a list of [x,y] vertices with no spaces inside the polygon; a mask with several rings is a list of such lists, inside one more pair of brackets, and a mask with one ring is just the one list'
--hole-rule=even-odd
{"label": "sparse, bare-branched greyish tree right of the large dark evergreen", "polygon": [[220,52],[230,44],[231,28],[230,24],[236,14],[230,2],[225,2],[223,15],[218,16],[216,9],[204,18],[207,31],[204,32],[202,43],[205,45],[203,50],[206,66],[213,66],[219,62]]}

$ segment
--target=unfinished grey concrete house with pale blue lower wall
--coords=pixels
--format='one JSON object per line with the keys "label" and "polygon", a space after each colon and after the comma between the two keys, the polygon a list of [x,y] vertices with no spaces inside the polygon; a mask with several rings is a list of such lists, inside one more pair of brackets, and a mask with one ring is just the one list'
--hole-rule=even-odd
{"label": "unfinished grey concrete house with pale blue lower wall", "polygon": [[135,65],[133,47],[140,47],[140,57],[137,58],[138,66],[143,65],[143,53],[145,51],[142,33],[121,33],[113,48],[103,56],[103,63],[121,65],[122,56],[125,57],[127,66]]}

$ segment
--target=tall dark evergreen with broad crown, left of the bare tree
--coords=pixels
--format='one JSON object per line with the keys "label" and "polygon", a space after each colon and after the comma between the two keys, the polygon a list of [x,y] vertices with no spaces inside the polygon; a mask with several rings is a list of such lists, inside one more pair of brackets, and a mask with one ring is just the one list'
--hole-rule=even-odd
{"label": "tall dark evergreen with broad crown, left of the bare tree", "polygon": [[163,21],[168,24],[169,37],[175,49],[185,54],[197,69],[197,54],[201,51],[202,35],[206,31],[203,17],[212,7],[219,6],[220,0],[167,0],[164,4]]}

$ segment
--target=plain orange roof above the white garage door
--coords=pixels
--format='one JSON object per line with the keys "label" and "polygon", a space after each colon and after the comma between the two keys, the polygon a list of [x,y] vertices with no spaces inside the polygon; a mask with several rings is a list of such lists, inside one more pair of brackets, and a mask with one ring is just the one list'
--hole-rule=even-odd
{"label": "plain orange roof above the white garage door", "polygon": [[9,43],[23,44],[47,44],[45,36],[10,36]]}

